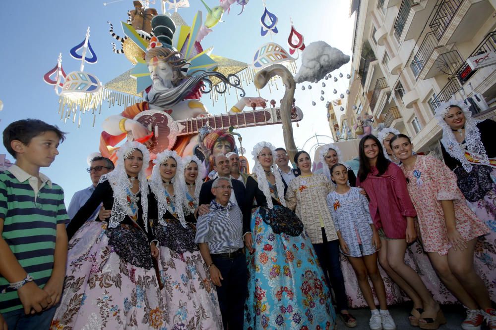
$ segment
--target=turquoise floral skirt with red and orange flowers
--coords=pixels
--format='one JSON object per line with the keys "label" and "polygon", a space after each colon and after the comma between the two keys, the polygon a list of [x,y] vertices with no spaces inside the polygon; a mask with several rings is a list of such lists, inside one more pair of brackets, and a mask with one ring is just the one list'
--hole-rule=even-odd
{"label": "turquoise floral skirt with red and orange flowers", "polygon": [[335,329],[336,314],[310,238],[305,231],[274,234],[259,210],[251,213],[255,252],[247,251],[245,330]]}

